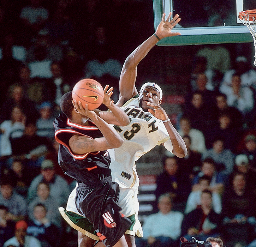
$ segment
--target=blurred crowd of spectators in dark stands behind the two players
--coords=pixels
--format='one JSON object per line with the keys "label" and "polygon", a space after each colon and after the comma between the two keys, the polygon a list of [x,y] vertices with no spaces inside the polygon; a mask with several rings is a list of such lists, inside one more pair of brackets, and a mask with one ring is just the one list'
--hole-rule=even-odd
{"label": "blurred crowd of spectators in dark stands behind the two players", "polygon": [[[67,245],[58,207],[75,181],[57,160],[60,98],[93,78],[113,86],[118,99],[122,63],[135,37],[148,35],[148,23],[140,23],[149,8],[144,0],[0,0],[0,247]],[[223,225],[242,225],[244,245],[256,238],[256,70],[249,59],[205,46],[184,71],[188,90],[175,127],[188,154],[159,156],[159,212],[145,220],[137,247],[178,245],[181,235],[225,238]]]}

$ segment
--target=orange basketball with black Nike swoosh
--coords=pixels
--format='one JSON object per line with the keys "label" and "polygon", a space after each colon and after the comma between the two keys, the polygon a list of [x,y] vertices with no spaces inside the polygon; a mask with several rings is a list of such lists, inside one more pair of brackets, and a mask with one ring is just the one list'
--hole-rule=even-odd
{"label": "orange basketball with black Nike swoosh", "polygon": [[76,83],[72,90],[73,100],[81,101],[83,108],[88,104],[89,110],[99,107],[104,98],[104,89],[93,79],[82,79]]}

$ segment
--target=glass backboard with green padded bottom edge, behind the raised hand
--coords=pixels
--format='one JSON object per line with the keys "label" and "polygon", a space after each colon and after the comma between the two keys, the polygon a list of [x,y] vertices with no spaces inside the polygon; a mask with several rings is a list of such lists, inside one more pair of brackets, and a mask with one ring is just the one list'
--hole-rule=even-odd
{"label": "glass backboard with green padded bottom edge, behind the raised hand", "polygon": [[181,18],[173,29],[181,36],[165,38],[159,46],[253,42],[238,13],[256,9],[255,0],[153,0],[153,6],[155,28],[163,13]]}

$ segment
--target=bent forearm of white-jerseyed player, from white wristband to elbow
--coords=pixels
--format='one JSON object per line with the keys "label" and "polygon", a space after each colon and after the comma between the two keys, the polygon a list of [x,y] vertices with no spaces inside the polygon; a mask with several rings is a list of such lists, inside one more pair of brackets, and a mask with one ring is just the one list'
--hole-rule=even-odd
{"label": "bent forearm of white-jerseyed player, from white wristband to elbow", "polygon": [[[184,140],[181,138],[178,131],[173,127],[171,121],[165,122],[164,125],[172,142],[173,154],[179,158],[185,157],[187,155],[187,148]],[[165,143],[165,147],[168,147],[167,143]]]}

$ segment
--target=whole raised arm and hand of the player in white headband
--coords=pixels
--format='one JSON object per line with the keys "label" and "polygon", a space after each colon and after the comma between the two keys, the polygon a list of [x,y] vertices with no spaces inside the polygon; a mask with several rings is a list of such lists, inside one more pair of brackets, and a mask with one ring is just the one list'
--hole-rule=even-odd
{"label": "whole raised arm and hand of the player in white headband", "polygon": [[172,13],[170,13],[165,20],[165,14],[163,14],[162,21],[157,26],[155,34],[144,41],[126,58],[119,81],[120,97],[117,102],[118,106],[122,106],[127,100],[130,100],[130,98],[138,94],[135,81],[139,62],[162,38],[180,35],[179,32],[172,32],[173,27],[180,21],[179,15],[176,14],[174,18],[170,20],[171,15]]}

